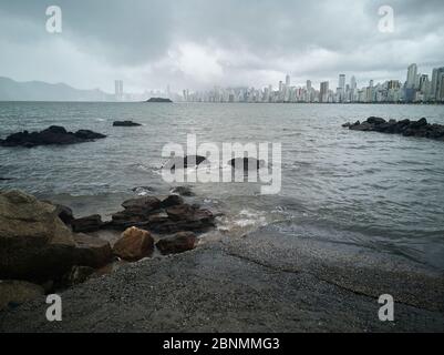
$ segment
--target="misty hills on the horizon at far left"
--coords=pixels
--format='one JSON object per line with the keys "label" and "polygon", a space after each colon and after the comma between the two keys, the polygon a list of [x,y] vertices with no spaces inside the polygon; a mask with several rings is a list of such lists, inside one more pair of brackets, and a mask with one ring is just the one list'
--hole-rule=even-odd
{"label": "misty hills on the horizon at far left", "polygon": [[101,90],[78,90],[64,83],[17,82],[0,77],[0,101],[113,101]]}

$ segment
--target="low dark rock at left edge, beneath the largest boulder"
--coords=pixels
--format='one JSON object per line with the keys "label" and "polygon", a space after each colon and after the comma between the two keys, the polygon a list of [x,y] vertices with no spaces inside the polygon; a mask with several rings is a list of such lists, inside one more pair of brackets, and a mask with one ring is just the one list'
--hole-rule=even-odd
{"label": "low dark rock at left edge, beneath the largest boulder", "polygon": [[19,305],[44,295],[43,287],[24,281],[0,281],[0,311]]}

